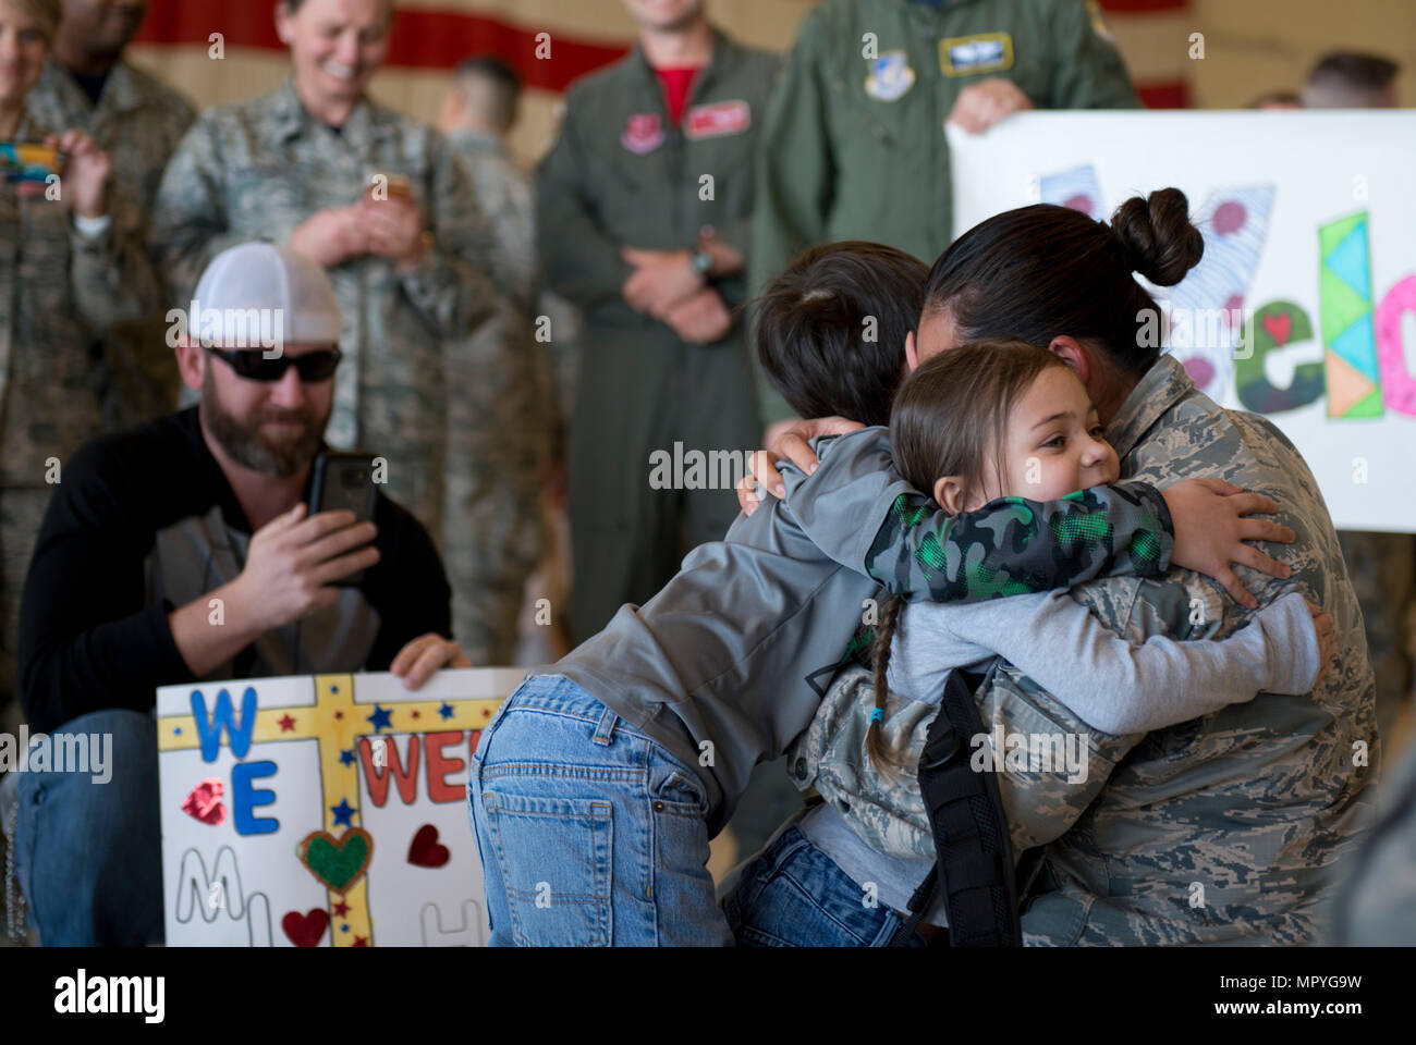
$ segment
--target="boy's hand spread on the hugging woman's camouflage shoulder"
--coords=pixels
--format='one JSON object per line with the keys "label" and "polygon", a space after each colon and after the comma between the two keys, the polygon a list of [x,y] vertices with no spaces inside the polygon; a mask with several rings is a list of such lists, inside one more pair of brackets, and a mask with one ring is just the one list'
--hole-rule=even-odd
{"label": "boy's hand spread on the hugging woman's camouflage shoulder", "polygon": [[1245,493],[1243,487],[1219,479],[1187,479],[1165,487],[1161,494],[1175,525],[1171,565],[1214,578],[1246,609],[1256,609],[1259,600],[1239,583],[1231,564],[1242,564],[1280,579],[1293,575],[1289,566],[1252,544],[1293,544],[1297,539],[1297,534],[1289,527],[1270,520],[1245,518],[1279,511],[1279,506],[1263,494]]}

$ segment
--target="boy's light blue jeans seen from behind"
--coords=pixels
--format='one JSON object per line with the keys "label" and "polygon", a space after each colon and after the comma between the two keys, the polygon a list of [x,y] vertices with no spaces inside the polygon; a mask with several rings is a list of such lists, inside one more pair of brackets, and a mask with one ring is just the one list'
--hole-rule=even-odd
{"label": "boy's light blue jeans seen from behind", "polygon": [[491,946],[731,946],[697,770],[564,675],[527,678],[467,779]]}

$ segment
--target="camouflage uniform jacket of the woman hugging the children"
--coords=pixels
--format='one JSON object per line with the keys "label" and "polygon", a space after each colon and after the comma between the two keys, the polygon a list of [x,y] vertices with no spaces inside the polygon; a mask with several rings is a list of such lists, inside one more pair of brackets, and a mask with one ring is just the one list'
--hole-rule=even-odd
{"label": "camouflage uniform jacket of the woman hugging the children", "polygon": [[[1131,391],[1109,435],[1130,480],[1170,486],[1223,479],[1277,501],[1279,521],[1298,539],[1270,551],[1293,568],[1293,578],[1246,566],[1236,572],[1260,606],[1297,589],[1328,610],[1335,654],[1311,694],[1260,692],[1250,702],[1130,736],[1090,729],[1017,668],[995,661],[978,692],[987,728],[1078,733],[1089,752],[1085,782],[1069,782],[1065,772],[1011,769],[1000,777],[1015,848],[1046,845],[1022,918],[1028,943],[1308,942],[1328,869],[1359,840],[1369,806],[1364,790],[1378,758],[1362,619],[1323,496],[1277,428],[1216,406],[1170,355]],[[824,477],[817,497],[860,483],[858,470],[833,476],[828,463],[813,476]],[[864,554],[862,541],[821,549],[906,598],[926,598],[942,586],[927,549],[947,517],[922,514],[925,506],[927,498],[912,493],[872,511],[838,496],[834,510],[844,507],[852,518],[888,518],[874,541],[867,538]],[[1072,595],[1134,643],[1151,634],[1225,637],[1253,616],[1192,571],[1172,569],[1163,581],[1097,579]],[[831,698],[860,701],[858,691],[847,691],[868,688],[869,680],[857,673],[835,685],[841,691]],[[898,816],[908,799],[893,787],[888,780],[862,784],[882,803],[881,833],[893,831],[891,843],[909,848],[905,831],[912,827]]]}

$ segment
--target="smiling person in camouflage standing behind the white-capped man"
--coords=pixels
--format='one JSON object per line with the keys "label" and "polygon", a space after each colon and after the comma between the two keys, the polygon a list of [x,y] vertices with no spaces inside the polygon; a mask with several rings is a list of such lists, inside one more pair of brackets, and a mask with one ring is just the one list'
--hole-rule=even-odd
{"label": "smiling person in camouflage standing behind the white-capped man", "polygon": [[[388,496],[457,558],[477,539],[466,521],[443,530],[449,473],[473,483],[489,473],[490,487],[515,467],[481,450],[447,455],[449,401],[466,395],[449,381],[449,344],[493,314],[498,292],[483,266],[501,266],[443,136],[365,95],[392,21],[391,0],[276,7],[290,79],[201,116],[163,176],[152,241],[171,307],[188,307],[215,253],[251,239],[287,244],[329,270],[344,362],[326,438],[384,457]],[[497,425],[494,415],[469,421]]]}

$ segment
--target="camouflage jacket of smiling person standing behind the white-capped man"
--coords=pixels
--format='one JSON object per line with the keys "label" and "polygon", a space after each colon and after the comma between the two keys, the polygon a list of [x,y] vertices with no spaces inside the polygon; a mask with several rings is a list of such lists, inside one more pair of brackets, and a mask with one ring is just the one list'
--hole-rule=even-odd
{"label": "camouflage jacket of smiling person standing behind the white-capped man", "polygon": [[[326,440],[388,460],[388,494],[442,547],[447,401],[445,346],[496,307],[481,272],[491,238],[472,187],[439,132],[360,102],[336,132],[310,116],[287,79],[269,95],[210,109],[183,139],[157,193],[154,258],[173,307],[221,251],[286,244],[316,211],[346,207],[399,174],[412,183],[433,248],[412,272],[374,255],[330,270],[343,314]],[[490,419],[479,419],[479,423]]]}

